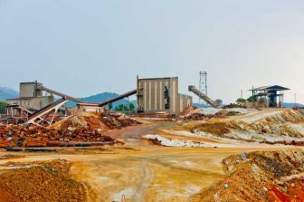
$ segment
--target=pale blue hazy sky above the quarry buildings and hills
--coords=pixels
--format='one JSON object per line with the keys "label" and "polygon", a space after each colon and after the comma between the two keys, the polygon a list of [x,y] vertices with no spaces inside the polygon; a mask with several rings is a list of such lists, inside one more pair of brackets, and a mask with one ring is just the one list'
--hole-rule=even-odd
{"label": "pale blue hazy sky above the quarry buildings and hills", "polygon": [[304,103],[304,1],[0,0],[0,86],[85,97],[178,76],[191,95],[200,71],[225,103],[272,84]]}

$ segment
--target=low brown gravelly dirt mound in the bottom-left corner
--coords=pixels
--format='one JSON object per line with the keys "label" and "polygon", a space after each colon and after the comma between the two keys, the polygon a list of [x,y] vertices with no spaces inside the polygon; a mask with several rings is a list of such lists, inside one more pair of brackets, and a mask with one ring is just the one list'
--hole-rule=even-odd
{"label": "low brown gravelly dirt mound in the bottom-left corner", "polygon": [[70,178],[70,167],[65,160],[55,160],[5,171],[0,174],[0,201],[88,201],[87,188]]}

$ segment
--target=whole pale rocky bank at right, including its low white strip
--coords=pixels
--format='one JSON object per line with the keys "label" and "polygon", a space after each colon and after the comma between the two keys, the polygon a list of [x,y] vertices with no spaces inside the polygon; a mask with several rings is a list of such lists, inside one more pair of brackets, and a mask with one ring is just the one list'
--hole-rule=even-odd
{"label": "whole pale rocky bank at right, including its low white strip", "polygon": [[304,145],[304,110],[195,109],[186,114],[193,115],[197,111],[203,120],[180,120],[170,135],[158,132],[145,138],[171,147]]}

